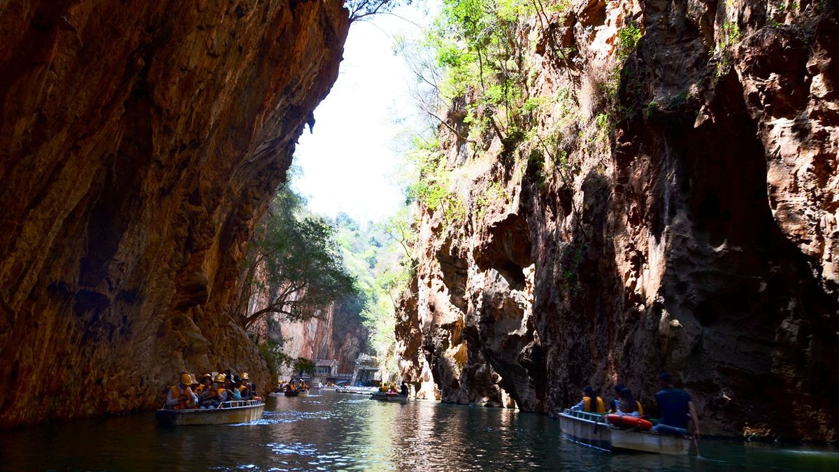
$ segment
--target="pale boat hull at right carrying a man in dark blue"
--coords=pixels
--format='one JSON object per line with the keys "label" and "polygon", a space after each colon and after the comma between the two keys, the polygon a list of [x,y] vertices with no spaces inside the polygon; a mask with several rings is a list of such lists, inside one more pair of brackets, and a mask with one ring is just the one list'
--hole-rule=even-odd
{"label": "pale boat hull at right carrying a man in dark blue", "polygon": [[637,429],[621,429],[607,424],[606,416],[565,410],[560,427],[566,438],[603,451],[623,449],[655,454],[688,454],[690,438]]}

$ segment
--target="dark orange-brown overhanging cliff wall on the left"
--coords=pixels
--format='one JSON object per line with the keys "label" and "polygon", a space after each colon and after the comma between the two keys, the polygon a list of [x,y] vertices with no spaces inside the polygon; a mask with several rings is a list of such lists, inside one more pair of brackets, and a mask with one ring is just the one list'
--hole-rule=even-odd
{"label": "dark orange-brown overhanging cliff wall on the left", "polygon": [[224,307],[347,16],[0,3],[0,427],[159,406],[181,370],[268,381]]}

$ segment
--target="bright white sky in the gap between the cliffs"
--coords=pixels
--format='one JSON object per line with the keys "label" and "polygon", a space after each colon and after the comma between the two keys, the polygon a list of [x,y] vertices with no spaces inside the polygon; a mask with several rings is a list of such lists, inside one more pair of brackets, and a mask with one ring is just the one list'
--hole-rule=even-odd
{"label": "bright white sky in the gap between the cliffs", "polygon": [[[399,8],[396,13],[424,24],[428,13]],[[315,132],[306,127],[294,155],[303,175],[294,189],[312,211],[334,218],[346,212],[365,223],[394,212],[403,198],[393,179],[401,160],[396,138],[417,113],[409,97],[414,76],[393,55],[393,36],[419,37],[420,28],[384,14],[350,27],[341,72],[315,109]]]}

